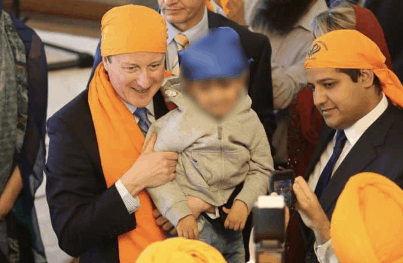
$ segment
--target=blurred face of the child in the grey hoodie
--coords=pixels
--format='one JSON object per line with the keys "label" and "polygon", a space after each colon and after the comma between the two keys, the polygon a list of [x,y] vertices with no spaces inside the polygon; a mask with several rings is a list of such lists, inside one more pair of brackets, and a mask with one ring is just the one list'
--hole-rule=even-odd
{"label": "blurred face of the child in the grey hoodie", "polygon": [[220,119],[231,112],[238,102],[239,91],[244,87],[244,79],[213,79],[193,81],[189,91],[202,109]]}

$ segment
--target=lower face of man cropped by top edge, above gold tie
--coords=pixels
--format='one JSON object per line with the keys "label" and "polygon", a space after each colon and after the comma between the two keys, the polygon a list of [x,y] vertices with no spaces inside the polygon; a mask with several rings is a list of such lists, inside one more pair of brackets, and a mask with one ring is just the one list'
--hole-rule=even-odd
{"label": "lower face of man cropped by top edge, above gold tie", "polygon": [[205,0],[158,0],[162,13],[179,30],[185,31],[199,23],[204,15]]}

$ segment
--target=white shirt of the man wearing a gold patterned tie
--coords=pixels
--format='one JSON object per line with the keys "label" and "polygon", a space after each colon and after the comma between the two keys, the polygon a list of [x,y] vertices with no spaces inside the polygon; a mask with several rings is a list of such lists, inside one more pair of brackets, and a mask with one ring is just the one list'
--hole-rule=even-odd
{"label": "white shirt of the man wearing a gold patterned tie", "polygon": [[[213,0],[214,2],[214,0]],[[164,16],[165,17],[165,16]],[[165,17],[166,20],[166,27],[168,27],[168,40],[167,40],[167,47],[166,47],[166,69],[171,72],[172,71],[172,64],[176,62],[175,57],[178,56],[178,46],[174,42],[174,37],[182,33],[185,37],[189,40],[190,46],[193,42],[198,40],[204,33],[207,32],[208,29],[208,18],[207,18],[207,8],[204,8],[204,15],[202,20],[200,20],[197,25],[194,27],[186,30],[186,31],[179,31],[176,29]]]}

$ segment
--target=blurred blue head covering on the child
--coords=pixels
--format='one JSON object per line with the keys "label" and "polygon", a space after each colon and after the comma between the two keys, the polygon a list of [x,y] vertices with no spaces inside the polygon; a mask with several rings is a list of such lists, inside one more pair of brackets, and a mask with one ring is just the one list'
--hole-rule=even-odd
{"label": "blurred blue head covering on the child", "polygon": [[231,27],[208,30],[208,34],[179,52],[181,77],[187,81],[240,77],[249,70],[238,33]]}

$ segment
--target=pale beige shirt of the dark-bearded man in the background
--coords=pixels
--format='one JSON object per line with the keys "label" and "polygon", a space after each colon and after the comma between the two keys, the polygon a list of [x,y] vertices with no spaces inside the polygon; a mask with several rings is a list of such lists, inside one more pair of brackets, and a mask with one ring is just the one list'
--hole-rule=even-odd
{"label": "pale beige shirt of the dark-bearded man in the background", "polygon": [[[248,6],[257,8],[257,4],[250,3],[250,1],[247,3]],[[307,85],[303,64],[314,40],[314,33],[310,25],[317,15],[326,10],[328,10],[328,7],[325,0],[316,1],[308,13],[301,17],[294,25],[294,28],[285,35],[250,28],[251,31],[266,35],[272,47],[271,65],[274,109],[287,108],[297,94]],[[253,12],[249,10],[249,13]],[[250,14],[247,16],[250,16]]]}

